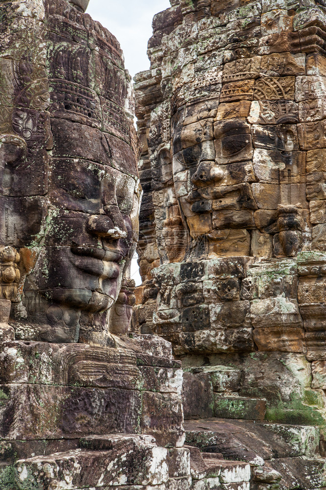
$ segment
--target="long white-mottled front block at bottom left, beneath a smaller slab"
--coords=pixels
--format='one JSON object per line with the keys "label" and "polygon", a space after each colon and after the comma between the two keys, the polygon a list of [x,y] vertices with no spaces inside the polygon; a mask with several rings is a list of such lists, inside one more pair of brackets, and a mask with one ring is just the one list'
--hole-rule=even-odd
{"label": "long white-mottled front block at bottom left, beneath a smaller slab", "polygon": [[[131,438],[129,438],[131,439]],[[134,438],[136,439],[136,438]],[[138,442],[138,441],[137,441]],[[68,451],[57,453],[52,457],[34,457],[16,463],[15,473],[19,488],[40,484],[50,489],[57,482],[63,481],[70,488],[92,485],[100,482],[109,485],[139,483],[143,485],[161,484],[168,480],[167,450],[156,444],[139,440],[130,445],[132,457],[126,461],[126,448],[111,451]],[[137,447],[138,446],[138,447]],[[114,447],[114,446],[113,446]],[[138,465],[132,464],[137,458]],[[86,471],[86,468],[89,468]],[[83,468],[83,471],[81,471]],[[68,482],[67,482],[68,480]]]}

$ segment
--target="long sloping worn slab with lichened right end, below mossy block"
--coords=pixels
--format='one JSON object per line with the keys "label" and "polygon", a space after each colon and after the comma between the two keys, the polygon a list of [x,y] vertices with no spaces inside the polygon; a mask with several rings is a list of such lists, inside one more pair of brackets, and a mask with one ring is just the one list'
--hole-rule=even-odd
{"label": "long sloping worn slab with lichened right end, below mossy block", "polygon": [[315,458],[319,428],[221,418],[185,420],[186,444],[228,460],[263,466],[273,458]]}

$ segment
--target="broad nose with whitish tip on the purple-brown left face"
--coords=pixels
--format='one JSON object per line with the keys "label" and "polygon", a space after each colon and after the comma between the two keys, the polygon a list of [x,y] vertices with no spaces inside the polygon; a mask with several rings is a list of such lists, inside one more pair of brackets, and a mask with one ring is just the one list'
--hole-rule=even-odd
{"label": "broad nose with whitish tip on the purple-brown left face", "polygon": [[118,206],[104,206],[104,211],[105,215],[91,215],[88,218],[88,231],[114,240],[127,238],[127,228]]}

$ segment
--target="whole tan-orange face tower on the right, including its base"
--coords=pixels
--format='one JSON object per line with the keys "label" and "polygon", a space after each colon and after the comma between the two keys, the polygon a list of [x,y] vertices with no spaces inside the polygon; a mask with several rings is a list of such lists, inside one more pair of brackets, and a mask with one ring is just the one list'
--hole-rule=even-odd
{"label": "whole tan-orange face tower on the right, including its base", "polygon": [[143,284],[132,328],[182,361],[190,446],[250,461],[254,489],[305,489],[311,470],[299,453],[280,457],[261,426],[304,427],[306,442],[314,426],[320,488],[325,5],[175,0],[153,31],[135,84]]}

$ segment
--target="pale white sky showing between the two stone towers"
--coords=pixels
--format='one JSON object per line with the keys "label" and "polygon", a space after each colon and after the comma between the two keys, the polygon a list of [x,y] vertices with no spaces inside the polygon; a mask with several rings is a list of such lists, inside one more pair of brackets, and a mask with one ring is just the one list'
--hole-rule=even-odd
{"label": "pale white sky showing between the two stone towers", "polygon": [[[148,70],[147,43],[152,36],[155,14],[169,8],[169,0],[90,0],[87,14],[99,21],[117,38],[125,55],[125,66],[131,76]],[[136,259],[131,277],[141,284]]]}

